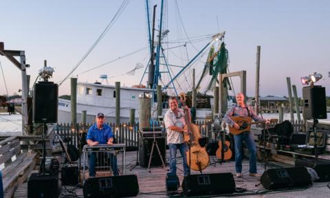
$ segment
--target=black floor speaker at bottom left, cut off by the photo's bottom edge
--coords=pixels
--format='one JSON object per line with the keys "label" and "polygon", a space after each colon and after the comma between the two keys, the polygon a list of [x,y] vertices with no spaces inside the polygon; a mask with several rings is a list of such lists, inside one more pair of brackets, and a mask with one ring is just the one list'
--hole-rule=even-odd
{"label": "black floor speaker at bottom left, cut off by the photo's bottom edge", "polygon": [[28,198],[58,197],[58,178],[54,175],[32,173],[28,180]]}

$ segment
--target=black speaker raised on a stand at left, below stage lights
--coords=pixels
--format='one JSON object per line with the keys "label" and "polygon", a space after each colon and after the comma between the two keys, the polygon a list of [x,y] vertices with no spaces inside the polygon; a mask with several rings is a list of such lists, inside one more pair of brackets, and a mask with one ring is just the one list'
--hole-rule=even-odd
{"label": "black speaker raised on a stand at left, below stage lights", "polygon": [[58,85],[39,82],[34,85],[33,121],[35,123],[56,123],[58,110]]}

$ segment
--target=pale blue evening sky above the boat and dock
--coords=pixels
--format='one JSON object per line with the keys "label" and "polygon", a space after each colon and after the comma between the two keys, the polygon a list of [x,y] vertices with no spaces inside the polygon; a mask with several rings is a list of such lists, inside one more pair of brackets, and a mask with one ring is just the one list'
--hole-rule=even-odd
{"label": "pale blue evening sky above the boat and dock", "polygon": [[[176,2],[180,12],[176,11]],[[0,0],[0,41],[6,50],[25,50],[28,74],[32,83],[47,59],[55,67],[52,80],[63,80],[96,41],[111,21],[122,1],[4,1]],[[157,3],[159,11],[160,1]],[[193,1],[171,0],[167,3],[166,29],[168,41],[186,36],[203,36],[225,31],[225,43],[230,56],[230,72],[246,70],[248,96],[254,95],[256,46],[261,45],[261,96],[287,96],[286,77],[291,77],[301,96],[300,77],[320,72],[323,78],[317,83],[326,87],[330,95],[330,1]],[[177,28],[178,13],[184,23]],[[159,18],[159,12],[157,12]],[[157,28],[157,27],[156,27]],[[178,56],[192,58],[208,41],[194,43]],[[142,0],[131,0],[124,12],[110,28],[104,39],[78,67],[74,76],[91,67],[112,61],[148,45],[146,10]],[[197,48],[197,50],[194,49]],[[188,54],[188,55],[187,55]],[[169,54],[170,55],[170,54]],[[169,58],[175,61],[175,58]],[[196,65],[197,76],[203,67],[200,59]],[[137,63],[146,65],[148,49],[121,58],[111,64],[78,76],[78,81],[94,83],[100,74],[117,76],[109,83],[121,81],[131,86],[140,83],[144,68],[134,76],[122,75],[134,69]],[[5,57],[0,61],[9,94],[21,88],[21,74]],[[184,65],[185,61],[176,61]],[[188,72],[186,75],[189,75]],[[232,79],[235,91],[238,78]],[[142,83],[145,83],[143,80]],[[189,78],[186,80],[190,83]],[[184,84],[184,83],[182,83]],[[188,85],[182,85],[188,90]],[[69,94],[69,80],[60,87],[60,95]],[[6,94],[0,73],[0,95]]]}

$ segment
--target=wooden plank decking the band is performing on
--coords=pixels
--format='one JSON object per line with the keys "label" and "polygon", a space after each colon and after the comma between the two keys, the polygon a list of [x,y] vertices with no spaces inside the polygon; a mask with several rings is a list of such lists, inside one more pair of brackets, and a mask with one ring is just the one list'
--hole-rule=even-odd
{"label": "wooden plank decking the band is performing on", "polygon": [[[179,156],[179,154],[178,154]],[[182,166],[181,166],[181,157],[177,159],[177,175],[179,175],[180,184],[183,180],[183,173],[182,173]],[[118,156],[118,165],[121,165],[120,156]],[[214,156],[210,156],[210,161],[213,162]],[[166,161],[168,161],[168,151],[166,155]],[[136,166],[133,170],[129,170],[129,168],[136,164],[136,152],[130,151],[126,152],[126,175],[135,174],[137,175],[138,184],[140,187],[140,192],[137,197],[168,197],[166,195],[166,186],[165,186],[165,177],[168,166],[166,168],[151,168],[151,173],[148,173],[146,168],[141,166]],[[280,162],[270,162],[267,163],[267,168],[279,168],[279,167],[289,167],[292,165],[283,164]],[[248,160],[243,161],[243,178],[236,178],[235,183],[236,187],[245,188],[248,191],[245,193],[252,193],[252,192],[261,192],[265,190],[263,186],[259,184],[259,178],[250,177],[248,175],[248,168],[249,162]],[[258,172],[263,173],[264,165],[262,163],[258,163]],[[203,173],[235,173],[234,171],[234,162],[225,162],[223,164],[219,164],[218,162],[214,165],[208,166]],[[192,171],[192,174],[199,174],[196,171]],[[219,184],[221,185],[221,184]],[[83,197],[83,188],[77,186],[69,186],[67,188],[75,188],[74,191],[78,197]],[[181,192],[182,188],[179,188],[179,192]],[[275,193],[275,194],[274,194]],[[15,192],[14,197],[27,197],[28,195],[28,185],[27,181],[25,181],[17,191]],[[236,194],[234,194],[236,195]],[[311,196],[312,195],[312,196]],[[177,195],[179,196],[179,195]],[[314,183],[313,186],[307,188],[306,190],[300,191],[289,191],[289,192],[278,192],[273,191],[272,194],[266,195],[245,195],[241,196],[237,194],[236,196],[239,197],[327,197],[329,196],[329,188],[327,188],[327,183]],[[235,196],[235,197],[236,197]],[[181,196],[179,196],[181,197]],[[214,196],[213,196],[214,197]]]}

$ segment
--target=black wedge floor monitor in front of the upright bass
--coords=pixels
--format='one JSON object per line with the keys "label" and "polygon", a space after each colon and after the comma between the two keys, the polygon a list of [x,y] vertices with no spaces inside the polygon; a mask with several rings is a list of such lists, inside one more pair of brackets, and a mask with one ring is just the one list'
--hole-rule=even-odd
{"label": "black wedge floor monitor in front of the upright bass", "polygon": [[235,188],[232,173],[189,175],[182,182],[186,196],[228,194],[235,192]]}

